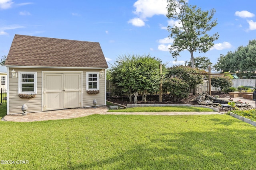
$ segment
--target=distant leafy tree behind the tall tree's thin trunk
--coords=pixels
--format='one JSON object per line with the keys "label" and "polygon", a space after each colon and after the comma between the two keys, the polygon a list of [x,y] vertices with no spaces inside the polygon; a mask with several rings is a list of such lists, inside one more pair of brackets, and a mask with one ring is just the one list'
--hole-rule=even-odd
{"label": "distant leafy tree behind the tall tree's thin trunk", "polygon": [[[195,57],[194,58],[195,68],[198,68],[200,70],[208,70],[209,66],[212,66],[212,62],[207,57]],[[191,61],[186,61],[185,65],[191,67],[192,63]]]}

